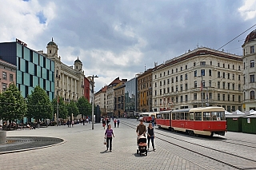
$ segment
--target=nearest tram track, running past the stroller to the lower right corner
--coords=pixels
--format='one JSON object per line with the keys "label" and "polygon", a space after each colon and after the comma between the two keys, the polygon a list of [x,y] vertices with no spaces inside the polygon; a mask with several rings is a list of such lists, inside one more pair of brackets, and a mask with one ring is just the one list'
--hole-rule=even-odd
{"label": "nearest tram track, running past the stroller to the lower right corner", "polygon": [[[136,128],[136,126],[137,126],[137,125],[130,124],[128,122],[123,122],[123,124],[130,128]],[[190,141],[178,139],[177,137],[168,136],[161,132],[155,132],[155,133],[157,134],[156,138],[158,138],[158,140],[162,140],[162,141],[164,141],[168,144],[172,144],[178,148],[183,148],[186,151],[194,152],[200,156],[205,156],[205,157],[209,158],[210,160],[217,161],[218,163],[221,163],[221,164],[226,164],[227,166],[230,166],[232,168],[244,169],[244,170],[256,169],[256,160],[246,158],[244,156],[238,156],[238,155],[235,155],[230,152],[221,151],[216,148],[210,148],[210,147],[204,146],[202,144],[195,144]],[[159,136],[162,136],[162,137],[159,137]],[[176,141],[178,140],[178,142],[170,141],[169,139],[176,140]],[[181,142],[183,144],[178,144]],[[191,147],[188,144],[190,144],[190,145],[192,144],[192,145],[194,145],[194,147]],[[249,147],[249,146],[247,146],[247,147]],[[208,151],[203,152],[202,148],[207,149]],[[220,159],[220,158],[225,158],[225,159]],[[229,161],[228,158],[230,158],[230,160],[238,160],[236,162],[242,162],[243,164],[239,164],[239,165],[234,164],[234,161]]]}

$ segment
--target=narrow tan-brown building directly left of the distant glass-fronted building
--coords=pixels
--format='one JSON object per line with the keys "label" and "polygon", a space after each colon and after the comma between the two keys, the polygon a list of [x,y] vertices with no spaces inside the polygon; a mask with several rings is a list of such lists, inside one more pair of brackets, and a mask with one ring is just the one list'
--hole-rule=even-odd
{"label": "narrow tan-brown building directly left of the distant glass-fronted building", "polygon": [[125,81],[121,81],[114,88],[114,117],[124,117],[125,113]]}

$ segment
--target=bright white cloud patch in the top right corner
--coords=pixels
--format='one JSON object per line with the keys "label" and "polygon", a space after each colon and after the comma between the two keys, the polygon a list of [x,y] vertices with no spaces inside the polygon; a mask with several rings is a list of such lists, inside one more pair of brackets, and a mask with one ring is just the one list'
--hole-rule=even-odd
{"label": "bright white cloud patch in the top right corner", "polygon": [[238,8],[238,11],[245,20],[256,17],[256,0],[246,0],[244,5]]}

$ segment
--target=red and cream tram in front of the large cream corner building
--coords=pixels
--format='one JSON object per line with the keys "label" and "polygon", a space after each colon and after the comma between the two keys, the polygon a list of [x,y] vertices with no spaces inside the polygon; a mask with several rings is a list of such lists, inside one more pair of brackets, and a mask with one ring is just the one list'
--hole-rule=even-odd
{"label": "red and cream tram in front of the large cream corner building", "polygon": [[225,135],[226,118],[222,107],[177,109],[157,113],[156,124],[159,128],[187,132],[190,135]]}

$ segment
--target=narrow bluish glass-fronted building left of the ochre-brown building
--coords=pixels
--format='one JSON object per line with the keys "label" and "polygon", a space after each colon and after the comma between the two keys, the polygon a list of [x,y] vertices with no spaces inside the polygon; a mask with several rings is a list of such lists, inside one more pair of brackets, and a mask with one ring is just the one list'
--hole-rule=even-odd
{"label": "narrow bluish glass-fronted building left of the ochre-brown building", "polygon": [[125,99],[126,113],[135,113],[137,111],[137,77],[126,81]]}

